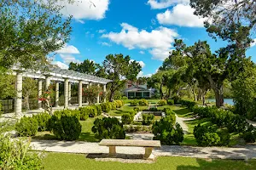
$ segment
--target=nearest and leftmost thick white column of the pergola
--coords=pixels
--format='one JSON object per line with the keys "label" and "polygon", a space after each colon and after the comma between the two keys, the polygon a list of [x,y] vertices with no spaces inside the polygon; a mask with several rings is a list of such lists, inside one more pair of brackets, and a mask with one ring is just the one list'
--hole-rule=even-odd
{"label": "nearest and leftmost thick white column of the pergola", "polygon": [[22,74],[16,73],[16,98],[15,98],[15,116],[22,113]]}

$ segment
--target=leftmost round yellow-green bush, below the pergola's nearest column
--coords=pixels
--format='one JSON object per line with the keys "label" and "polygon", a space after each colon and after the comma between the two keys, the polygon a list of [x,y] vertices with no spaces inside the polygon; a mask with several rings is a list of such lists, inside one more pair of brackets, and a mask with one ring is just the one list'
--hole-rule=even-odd
{"label": "leftmost round yellow-green bush, below the pergola's nearest column", "polygon": [[34,136],[38,132],[38,121],[32,117],[22,117],[15,124],[19,136]]}

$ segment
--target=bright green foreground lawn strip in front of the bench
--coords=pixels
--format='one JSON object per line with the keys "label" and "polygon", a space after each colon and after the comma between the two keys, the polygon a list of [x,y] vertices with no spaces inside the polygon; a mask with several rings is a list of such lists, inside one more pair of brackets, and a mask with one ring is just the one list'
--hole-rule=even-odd
{"label": "bright green foreground lawn strip in front of the bench", "polygon": [[253,170],[256,160],[230,161],[230,160],[206,160],[190,157],[158,157],[154,163],[122,163],[115,161],[95,161],[86,158],[83,154],[46,153],[44,167],[46,170]]}

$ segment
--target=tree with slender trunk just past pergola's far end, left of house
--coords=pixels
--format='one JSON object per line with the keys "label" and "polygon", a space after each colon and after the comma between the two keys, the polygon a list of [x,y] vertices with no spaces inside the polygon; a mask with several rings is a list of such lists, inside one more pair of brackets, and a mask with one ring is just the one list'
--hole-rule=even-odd
{"label": "tree with slender trunk just past pergola's far end, left of house", "polygon": [[142,70],[142,66],[136,61],[131,61],[131,57],[123,54],[108,54],[103,61],[103,68],[106,77],[112,80],[110,83],[109,101],[113,101],[115,91],[125,86],[126,80],[134,81],[137,74]]}

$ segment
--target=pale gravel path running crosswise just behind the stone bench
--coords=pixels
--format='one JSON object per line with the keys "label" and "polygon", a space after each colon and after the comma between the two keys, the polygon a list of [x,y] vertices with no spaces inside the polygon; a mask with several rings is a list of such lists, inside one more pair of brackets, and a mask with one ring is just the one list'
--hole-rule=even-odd
{"label": "pale gravel path running crosswise just behind the stone bench", "polygon": [[[55,141],[55,140],[32,140],[34,150],[45,150],[67,153],[100,154],[108,153],[107,146],[99,146],[98,143],[83,141]],[[135,155],[143,154],[142,147],[117,147],[119,154]],[[247,145],[240,148],[226,147],[192,147],[192,146],[167,146],[154,150],[155,156],[189,156],[197,158],[221,158],[221,159],[251,159],[256,158],[256,146]]]}

